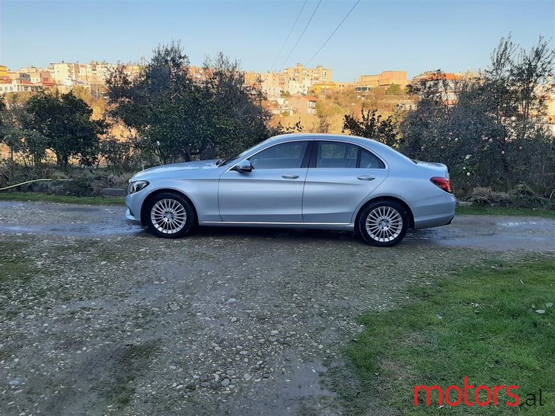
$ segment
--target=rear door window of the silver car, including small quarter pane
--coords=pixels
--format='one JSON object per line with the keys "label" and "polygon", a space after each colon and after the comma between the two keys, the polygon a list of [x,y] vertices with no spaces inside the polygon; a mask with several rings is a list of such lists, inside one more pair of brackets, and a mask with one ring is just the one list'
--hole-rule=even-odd
{"label": "rear door window of the silver car, including small quarter pane", "polygon": [[[316,157],[314,157],[316,156]],[[316,155],[313,151],[315,168],[373,168],[384,169],[386,166],[373,153],[355,144],[341,141],[318,141]]]}

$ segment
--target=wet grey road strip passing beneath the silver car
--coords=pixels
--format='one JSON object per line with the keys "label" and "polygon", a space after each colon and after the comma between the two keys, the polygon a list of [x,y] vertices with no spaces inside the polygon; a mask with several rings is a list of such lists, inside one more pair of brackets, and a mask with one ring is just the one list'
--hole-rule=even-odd
{"label": "wet grey road strip passing beneath the silver car", "polygon": [[[41,233],[94,238],[137,235],[144,230],[122,220],[123,207],[98,207],[38,202],[0,201],[0,233]],[[234,236],[282,236],[284,238],[351,238],[350,233],[307,230],[201,228],[200,235],[221,238]],[[555,250],[555,220],[514,216],[456,216],[447,227],[409,232],[405,245],[424,244],[486,248],[488,250]]]}

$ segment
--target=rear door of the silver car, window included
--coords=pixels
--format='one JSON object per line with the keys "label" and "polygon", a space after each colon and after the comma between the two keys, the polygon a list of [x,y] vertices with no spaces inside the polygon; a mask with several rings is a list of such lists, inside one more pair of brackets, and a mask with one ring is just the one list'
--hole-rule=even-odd
{"label": "rear door of the silver car, window included", "polygon": [[382,159],[365,148],[345,141],[315,141],[302,198],[303,221],[350,223],[360,202],[387,175]]}

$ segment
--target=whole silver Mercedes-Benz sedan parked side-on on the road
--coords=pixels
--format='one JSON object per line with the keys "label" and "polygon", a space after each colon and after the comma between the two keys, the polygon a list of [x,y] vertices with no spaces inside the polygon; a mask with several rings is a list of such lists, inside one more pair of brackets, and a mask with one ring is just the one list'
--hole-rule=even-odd
{"label": "whole silver Mercedes-Benz sedan parked side-on on the road", "polygon": [[129,181],[126,218],[177,238],[196,225],[354,230],[391,246],[454,218],[447,166],[347,135],[272,137],[230,159],[148,168]]}

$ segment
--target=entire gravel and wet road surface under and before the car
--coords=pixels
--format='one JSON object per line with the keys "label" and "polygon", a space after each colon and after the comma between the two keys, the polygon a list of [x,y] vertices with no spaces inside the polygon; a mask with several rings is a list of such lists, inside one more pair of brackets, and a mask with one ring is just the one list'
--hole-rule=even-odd
{"label": "entire gravel and wet road surface under and before the car", "polygon": [[378,249],[302,230],[164,240],[122,215],[0,202],[0,415],[345,414],[361,313],[459,266],[555,252],[542,218],[459,216]]}

